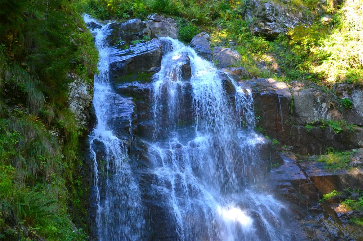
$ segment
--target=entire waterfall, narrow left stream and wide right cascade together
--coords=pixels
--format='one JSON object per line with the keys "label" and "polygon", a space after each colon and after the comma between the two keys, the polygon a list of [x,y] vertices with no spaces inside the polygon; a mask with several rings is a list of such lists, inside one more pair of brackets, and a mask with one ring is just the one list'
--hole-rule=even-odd
{"label": "entire waterfall, narrow left stream and wide right cascade together", "polygon": [[[130,119],[130,99],[110,85],[115,50],[105,41],[108,26],[93,34],[100,53],[93,100],[97,126],[90,134],[99,240],[288,240],[282,232],[284,205],[261,191],[268,164],[258,149],[264,138],[253,130],[250,91],[192,48],[162,38],[151,96],[150,164],[133,170],[129,144],[114,133],[110,116],[118,103],[126,105],[121,115]],[[185,55],[191,77],[183,76],[184,63],[178,62]],[[236,89],[233,98],[224,89],[226,80]]]}

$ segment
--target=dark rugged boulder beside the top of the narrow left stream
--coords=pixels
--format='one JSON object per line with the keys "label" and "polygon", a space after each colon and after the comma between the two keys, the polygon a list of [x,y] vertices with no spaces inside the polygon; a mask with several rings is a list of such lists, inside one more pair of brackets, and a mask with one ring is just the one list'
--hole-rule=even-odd
{"label": "dark rugged boulder beside the top of the narrow left stream", "polygon": [[112,29],[107,36],[110,46],[114,46],[119,41],[130,43],[131,41],[143,39],[144,36],[151,38],[151,31],[148,22],[141,21],[139,18],[130,19],[126,22],[115,22],[109,25]]}

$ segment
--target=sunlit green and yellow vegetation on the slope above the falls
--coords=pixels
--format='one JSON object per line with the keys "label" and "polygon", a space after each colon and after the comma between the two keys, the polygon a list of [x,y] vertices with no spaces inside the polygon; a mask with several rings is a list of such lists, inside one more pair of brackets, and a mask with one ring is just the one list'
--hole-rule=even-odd
{"label": "sunlit green and yellow vegetation on the slope above the falls", "polygon": [[[328,87],[339,82],[363,83],[363,0],[346,0],[342,5],[333,0],[271,2],[277,15],[289,12],[312,24],[299,25],[274,41],[267,41],[251,33],[251,26],[264,12],[262,4],[256,6],[250,0],[81,1],[78,8],[102,20],[145,20],[154,12],[171,16],[180,26],[181,40],[189,42],[196,27],[207,31],[212,46],[237,50],[242,56],[238,65],[255,77],[311,81]],[[248,14],[252,16],[246,17]],[[325,21],[327,14],[330,17]],[[182,21],[178,19],[186,22],[180,25]],[[267,69],[257,67],[261,62]]]}

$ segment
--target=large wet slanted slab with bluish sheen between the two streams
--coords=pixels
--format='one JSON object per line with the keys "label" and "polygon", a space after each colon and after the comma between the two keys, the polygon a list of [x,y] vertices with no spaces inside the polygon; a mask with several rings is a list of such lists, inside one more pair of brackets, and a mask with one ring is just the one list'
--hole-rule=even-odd
{"label": "large wet slanted slab with bluish sheen between the two streams", "polygon": [[126,50],[117,51],[110,61],[110,72],[114,77],[156,72],[160,70],[161,59],[162,42],[159,39],[140,42]]}

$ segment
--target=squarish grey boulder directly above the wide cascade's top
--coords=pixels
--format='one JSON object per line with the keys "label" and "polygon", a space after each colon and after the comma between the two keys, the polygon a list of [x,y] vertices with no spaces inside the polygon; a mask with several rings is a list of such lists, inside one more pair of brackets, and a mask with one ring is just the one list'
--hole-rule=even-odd
{"label": "squarish grey boulder directly above the wide cascade's top", "polygon": [[157,13],[147,16],[151,37],[170,37],[178,39],[178,25],[172,18],[166,18]]}

